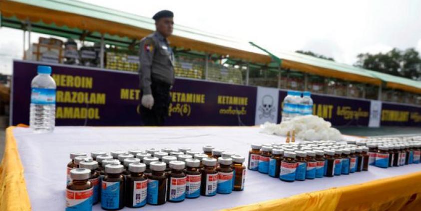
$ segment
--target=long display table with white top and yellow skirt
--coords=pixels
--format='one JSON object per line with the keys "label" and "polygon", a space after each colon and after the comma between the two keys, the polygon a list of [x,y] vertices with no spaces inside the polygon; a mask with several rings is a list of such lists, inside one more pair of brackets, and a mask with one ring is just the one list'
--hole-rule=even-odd
{"label": "long display table with white top and yellow skirt", "polygon": [[[64,210],[71,151],[201,150],[211,144],[247,159],[251,143],[285,141],[259,131],[259,127],[56,127],[51,134],[34,134],[29,128],[9,127],[0,166],[0,210]],[[421,164],[388,169],[371,166],[368,172],[293,183],[247,171],[243,192],[146,205],[142,210],[420,210],[420,170]],[[99,204],[94,210],[101,210]]]}

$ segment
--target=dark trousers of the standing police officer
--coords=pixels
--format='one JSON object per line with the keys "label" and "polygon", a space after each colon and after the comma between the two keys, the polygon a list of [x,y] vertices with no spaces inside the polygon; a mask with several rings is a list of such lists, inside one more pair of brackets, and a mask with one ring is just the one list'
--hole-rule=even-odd
{"label": "dark trousers of the standing police officer", "polygon": [[[162,126],[168,116],[168,106],[170,104],[170,85],[152,81],[151,90],[154,100],[152,109],[140,104],[140,116],[145,126]],[[143,97],[143,93],[142,93]],[[142,98],[140,98],[140,101]]]}

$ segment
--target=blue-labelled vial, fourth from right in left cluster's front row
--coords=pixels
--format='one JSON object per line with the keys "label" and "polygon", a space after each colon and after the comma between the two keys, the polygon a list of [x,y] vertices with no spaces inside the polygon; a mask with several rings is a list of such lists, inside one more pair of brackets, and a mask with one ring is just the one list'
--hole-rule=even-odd
{"label": "blue-labelled vial, fourth from right in left cluster's front row", "polygon": [[200,160],[186,159],[186,198],[194,199],[200,196],[200,182],[202,181],[202,174],[200,173]]}

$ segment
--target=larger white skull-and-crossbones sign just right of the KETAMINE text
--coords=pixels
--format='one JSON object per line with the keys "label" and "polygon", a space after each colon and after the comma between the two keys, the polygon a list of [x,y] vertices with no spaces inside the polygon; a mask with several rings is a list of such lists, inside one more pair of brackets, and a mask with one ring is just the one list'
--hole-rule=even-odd
{"label": "larger white skull-and-crossbones sign just right of the KETAMINE text", "polygon": [[275,88],[257,87],[255,124],[278,120],[279,90]]}

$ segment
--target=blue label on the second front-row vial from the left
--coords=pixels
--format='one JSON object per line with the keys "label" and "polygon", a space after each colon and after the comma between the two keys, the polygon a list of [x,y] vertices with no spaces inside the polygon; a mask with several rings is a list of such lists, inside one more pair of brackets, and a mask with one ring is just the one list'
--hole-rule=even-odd
{"label": "blue label on the second front-row vial from the left", "polygon": [[101,207],[118,209],[120,203],[120,182],[102,181]]}

